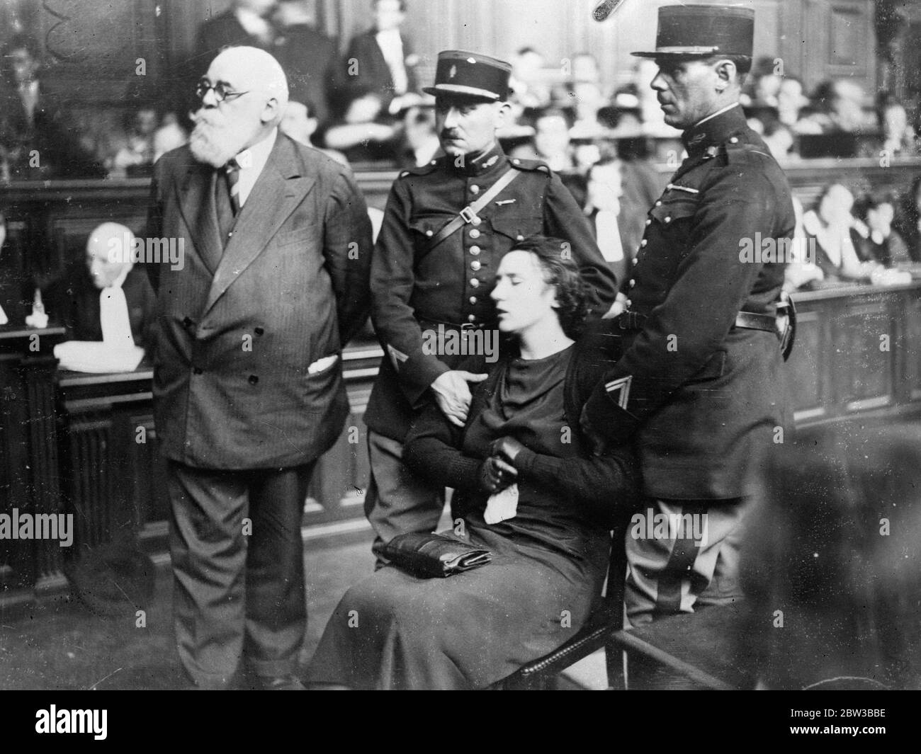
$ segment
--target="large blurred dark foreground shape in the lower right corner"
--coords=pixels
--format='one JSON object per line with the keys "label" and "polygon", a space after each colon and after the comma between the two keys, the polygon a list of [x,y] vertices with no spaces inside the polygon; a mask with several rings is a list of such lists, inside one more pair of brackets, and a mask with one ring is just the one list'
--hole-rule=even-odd
{"label": "large blurred dark foreground shape in the lower right corner", "polygon": [[831,424],[777,448],[740,567],[759,688],[918,688],[917,429]]}

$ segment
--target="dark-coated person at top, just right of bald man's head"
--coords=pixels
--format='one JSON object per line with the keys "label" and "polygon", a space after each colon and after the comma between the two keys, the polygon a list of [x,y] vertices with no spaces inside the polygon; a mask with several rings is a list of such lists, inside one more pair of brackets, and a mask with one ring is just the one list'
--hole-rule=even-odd
{"label": "dark-coated person at top, just right of bald man's head", "polygon": [[273,54],[288,79],[291,102],[308,105],[310,118],[330,118],[330,95],[337,80],[338,52],[335,41],[316,29],[311,0],[281,0],[275,9],[278,27]]}

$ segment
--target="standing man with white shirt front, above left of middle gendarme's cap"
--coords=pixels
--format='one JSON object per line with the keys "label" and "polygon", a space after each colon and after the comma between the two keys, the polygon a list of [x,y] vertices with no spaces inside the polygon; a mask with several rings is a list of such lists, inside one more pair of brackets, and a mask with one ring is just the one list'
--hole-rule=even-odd
{"label": "standing man with white shirt front, above left of middle gendarme's cap", "polygon": [[354,37],[345,52],[344,77],[337,78],[343,91],[337,97],[344,111],[358,94],[372,92],[383,112],[396,115],[421,100],[415,75],[419,56],[402,32],[405,0],[372,0],[371,11],[373,28]]}

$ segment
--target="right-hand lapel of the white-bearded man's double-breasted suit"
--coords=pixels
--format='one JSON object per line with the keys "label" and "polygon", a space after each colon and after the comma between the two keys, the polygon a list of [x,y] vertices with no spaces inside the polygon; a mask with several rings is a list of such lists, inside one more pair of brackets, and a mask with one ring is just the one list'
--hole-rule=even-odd
{"label": "right-hand lapel of the white-bearded man's double-breasted suit", "polygon": [[302,175],[303,172],[304,166],[294,145],[278,133],[272,153],[239,212],[233,236],[227,241],[224,256],[217,265],[204,314],[262,253],[297,204],[313,188],[316,180]]}

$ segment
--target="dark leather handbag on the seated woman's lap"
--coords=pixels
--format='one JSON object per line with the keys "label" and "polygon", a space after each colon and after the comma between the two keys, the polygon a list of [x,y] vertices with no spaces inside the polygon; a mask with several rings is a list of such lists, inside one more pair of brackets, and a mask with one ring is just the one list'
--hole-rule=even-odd
{"label": "dark leather handbag on the seated woman's lap", "polygon": [[411,532],[391,539],[383,556],[419,578],[445,578],[489,563],[493,553],[440,534]]}

